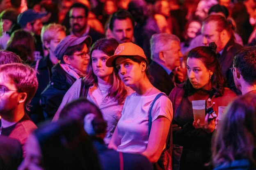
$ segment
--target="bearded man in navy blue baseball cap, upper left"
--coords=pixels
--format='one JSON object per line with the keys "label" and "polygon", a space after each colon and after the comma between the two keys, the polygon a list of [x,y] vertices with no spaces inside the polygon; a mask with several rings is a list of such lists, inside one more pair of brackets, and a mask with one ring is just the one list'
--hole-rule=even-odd
{"label": "bearded man in navy blue baseball cap, upper left", "polygon": [[40,37],[41,29],[43,27],[41,18],[46,15],[47,13],[38,13],[33,9],[28,9],[27,11],[20,13],[17,18],[17,22],[21,28],[25,31],[33,33],[34,37],[36,38],[36,51],[34,52],[34,57],[36,60],[43,58],[43,48]]}

